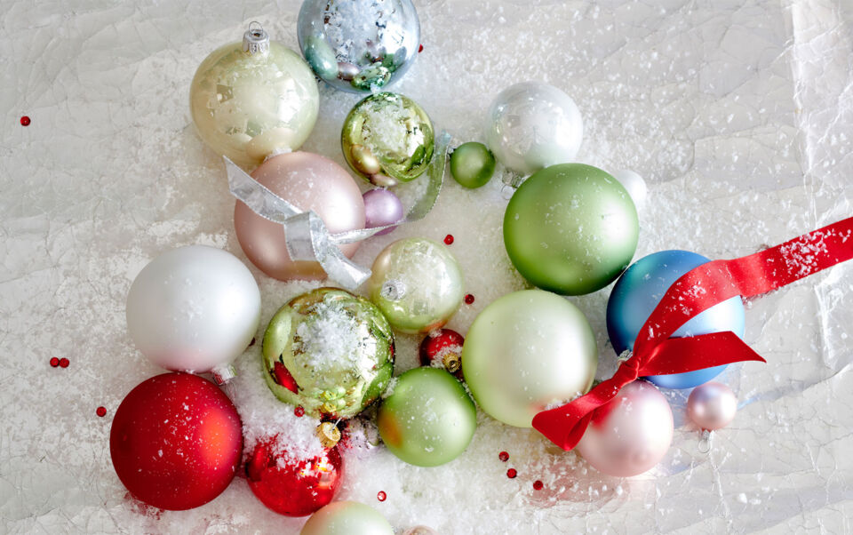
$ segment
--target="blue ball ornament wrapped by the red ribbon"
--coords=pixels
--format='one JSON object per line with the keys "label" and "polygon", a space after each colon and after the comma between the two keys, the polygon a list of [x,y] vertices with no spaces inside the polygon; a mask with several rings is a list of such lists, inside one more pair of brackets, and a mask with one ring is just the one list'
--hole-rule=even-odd
{"label": "blue ball ornament wrapped by the red ribbon", "polygon": [[[617,355],[626,349],[634,349],[634,340],[643,323],[649,319],[670,285],[691,269],[710,261],[695,252],[661,251],[637,260],[626,269],[607,302],[607,333]],[[740,297],[733,297],[684,323],[673,333],[673,338],[721,331],[732,331],[743,338],[744,327],[744,304]],[[687,373],[654,375],[647,379],[658,387],[691,388],[713,379],[725,368],[724,365],[715,366]]]}

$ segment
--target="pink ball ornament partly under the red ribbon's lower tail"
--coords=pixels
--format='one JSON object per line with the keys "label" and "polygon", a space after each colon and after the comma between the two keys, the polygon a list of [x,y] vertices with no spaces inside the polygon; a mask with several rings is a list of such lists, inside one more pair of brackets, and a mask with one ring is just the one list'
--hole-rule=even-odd
{"label": "pink ball ornament partly under the red ribbon's lower tail", "polygon": [[673,411],[666,397],[637,380],[595,413],[578,452],[603,474],[630,477],[657,465],[672,442]]}

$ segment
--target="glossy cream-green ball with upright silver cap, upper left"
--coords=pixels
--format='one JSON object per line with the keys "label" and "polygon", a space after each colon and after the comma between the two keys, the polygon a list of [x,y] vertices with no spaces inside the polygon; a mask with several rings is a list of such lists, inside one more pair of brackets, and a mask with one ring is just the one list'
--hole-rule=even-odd
{"label": "glossy cream-green ball with upright silver cap, upper left", "polygon": [[202,61],[189,104],[202,140],[235,164],[251,167],[305,142],[320,95],[299,54],[270,41],[252,22],[242,43],[226,44]]}

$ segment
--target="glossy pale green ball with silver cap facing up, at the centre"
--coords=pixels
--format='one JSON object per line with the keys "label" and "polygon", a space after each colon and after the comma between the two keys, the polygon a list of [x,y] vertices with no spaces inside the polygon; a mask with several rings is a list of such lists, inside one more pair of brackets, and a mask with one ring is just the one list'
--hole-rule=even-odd
{"label": "glossy pale green ball with silver cap facing up, at the centre", "polygon": [[462,271],[442,244],[407,238],[388,245],[373,261],[368,292],[388,322],[402,332],[429,332],[462,304]]}

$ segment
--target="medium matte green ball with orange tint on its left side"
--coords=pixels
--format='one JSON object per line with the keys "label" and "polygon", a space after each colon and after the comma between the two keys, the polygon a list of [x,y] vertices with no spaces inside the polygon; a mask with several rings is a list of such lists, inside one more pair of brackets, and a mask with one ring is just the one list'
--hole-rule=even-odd
{"label": "medium matte green ball with orange tint on its left side", "polygon": [[477,410],[465,388],[439,368],[415,368],[396,379],[379,405],[379,435],[388,450],[419,467],[437,467],[468,447]]}

